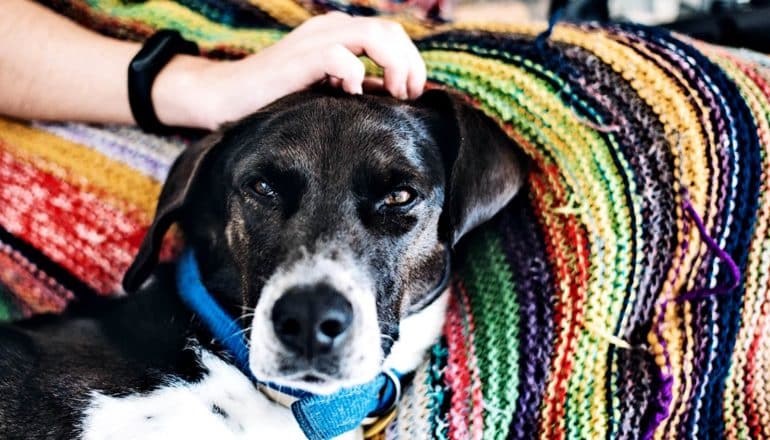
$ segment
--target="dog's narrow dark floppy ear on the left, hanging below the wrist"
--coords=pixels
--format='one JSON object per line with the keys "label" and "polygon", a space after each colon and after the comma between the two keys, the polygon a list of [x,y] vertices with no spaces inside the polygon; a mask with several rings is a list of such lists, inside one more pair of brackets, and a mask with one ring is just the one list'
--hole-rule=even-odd
{"label": "dog's narrow dark floppy ear on the left, hanging below the wrist", "polygon": [[222,130],[212,133],[188,147],[171,166],[158,198],[155,219],[147,230],[139,252],[123,277],[123,289],[133,292],[141,287],[158,264],[163,237],[179,218],[190,189],[200,174],[203,163],[222,140]]}

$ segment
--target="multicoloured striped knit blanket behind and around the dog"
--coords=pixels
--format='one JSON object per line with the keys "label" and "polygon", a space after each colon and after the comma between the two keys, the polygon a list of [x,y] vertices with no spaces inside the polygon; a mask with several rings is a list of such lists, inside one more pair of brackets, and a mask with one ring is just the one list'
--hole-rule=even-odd
{"label": "multicoloured striped knit blanket behind and around the dog", "polygon": [[[257,51],[317,0],[48,0],[100,32]],[[633,25],[394,16],[532,158],[463,245],[387,438],[770,437],[770,59]],[[187,141],[0,119],[0,318],[119,290]],[[174,254],[169,239],[166,258]]]}

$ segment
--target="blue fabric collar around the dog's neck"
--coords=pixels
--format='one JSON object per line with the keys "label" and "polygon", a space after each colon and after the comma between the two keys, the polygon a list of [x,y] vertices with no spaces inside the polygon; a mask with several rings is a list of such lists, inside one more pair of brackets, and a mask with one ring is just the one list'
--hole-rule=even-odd
{"label": "blue fabric collar around the dog's neck", "polygon": [[179,259],[176,282],[184,303],[232,355],[243,374],[258,385],[296,398],[291,404],[291,411],[308,439],[337,437],[358,428],[368,417],[390,412],[398,404],[401,376],[395,370],[383,372],[365,384],[329,395],[260,381],[249,369],[249,351],[242,329],[203,286],[195,255],[190,249],[185,250]]}

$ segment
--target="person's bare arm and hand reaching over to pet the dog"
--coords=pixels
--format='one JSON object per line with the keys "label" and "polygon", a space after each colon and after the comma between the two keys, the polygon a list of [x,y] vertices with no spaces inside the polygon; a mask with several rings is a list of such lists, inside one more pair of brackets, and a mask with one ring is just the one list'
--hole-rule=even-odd
{"label": "person's bare arm and hand reaching over to pet the dog", "polygon": [[[128,65],[140,47],[91,32],[29,0],[3,0],[0,114],[132,124]],[[155,80],[152,100],[166,125],[214,129],[324,79],[361,93],[361,54],[384,68],[384,86],[394,96],[422,92],[425,65],[400,25],[331,13],[239,61],[178,55]]]}

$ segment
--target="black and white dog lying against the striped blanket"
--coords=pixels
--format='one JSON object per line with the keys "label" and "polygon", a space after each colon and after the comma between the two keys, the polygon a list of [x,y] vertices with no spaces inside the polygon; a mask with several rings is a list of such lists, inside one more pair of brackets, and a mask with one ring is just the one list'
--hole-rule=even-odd
{"label": "black and white dog lying against the striped blanket", "polygon": [[175,266],[158,264],[168,228],[243,329],[250,374],[334,393],[423,360],[446,249],[510,201],[521,161],[436,90],[306,92],[210,135],[170,171],[124,280],[134,293],[0,327],[0,438],[303,438],[180,299]]}

